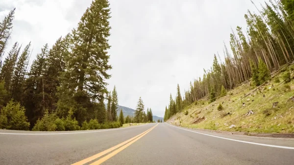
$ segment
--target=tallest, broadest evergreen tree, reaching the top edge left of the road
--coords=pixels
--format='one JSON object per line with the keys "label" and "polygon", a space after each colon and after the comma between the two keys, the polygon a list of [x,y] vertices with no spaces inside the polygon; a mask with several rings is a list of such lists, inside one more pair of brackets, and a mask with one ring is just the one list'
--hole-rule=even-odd
{"label": "tallest, broadest evergreen tree, reaching the top edge left of the road", "polygon": [[110,78],[107,71],[111,69],[108,64],[109,19],[108,0],[93,0],[72,31],[72,50],[62,75],[57,111],[64,117],[73,109],[80,125],[91,118],[96,102],[107,93],[106,79]]}

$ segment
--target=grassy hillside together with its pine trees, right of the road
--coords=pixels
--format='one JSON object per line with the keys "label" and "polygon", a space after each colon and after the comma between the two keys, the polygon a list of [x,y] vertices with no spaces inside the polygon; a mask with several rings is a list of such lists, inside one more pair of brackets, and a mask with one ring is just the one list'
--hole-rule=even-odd
{"label": "grassy hillside together with its pine trees, right of the road", "polygon": [[214,55],[211,69],[183,96],[178,85],[164,119],[213,130],[293,133],[293,3],[270,0],[259,14],[248,11],[246,30],[237,26],[230,34],[232,53],[224,45],[224,60]]}

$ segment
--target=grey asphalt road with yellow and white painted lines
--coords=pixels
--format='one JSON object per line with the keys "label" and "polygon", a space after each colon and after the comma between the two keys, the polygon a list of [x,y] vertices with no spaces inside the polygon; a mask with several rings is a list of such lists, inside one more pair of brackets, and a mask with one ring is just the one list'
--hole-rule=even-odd
{"label": "grey asphalt road with yellow and white painted lines", "polygon": [[294,140],[151,123],[71,132],[0,130],[0,165],[294,165]]}

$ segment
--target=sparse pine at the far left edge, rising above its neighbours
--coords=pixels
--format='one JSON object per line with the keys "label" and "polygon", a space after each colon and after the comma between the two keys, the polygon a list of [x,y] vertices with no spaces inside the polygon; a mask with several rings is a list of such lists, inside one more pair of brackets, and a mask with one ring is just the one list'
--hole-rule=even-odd
{"label": "sparse pine at the far left edge, rising above its neighbours", "polygon": [[4,54],[7,41],[10,37],[10,33],[12,29],[12,21],[14,19],[14,12],[15,12],[15,8],[11,10],[9,14],[4,17],[4,20],[0,23],[0,60]]}

